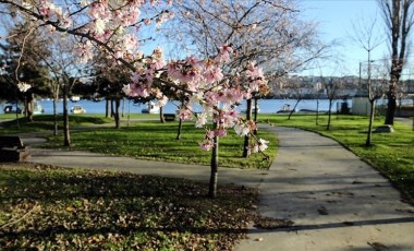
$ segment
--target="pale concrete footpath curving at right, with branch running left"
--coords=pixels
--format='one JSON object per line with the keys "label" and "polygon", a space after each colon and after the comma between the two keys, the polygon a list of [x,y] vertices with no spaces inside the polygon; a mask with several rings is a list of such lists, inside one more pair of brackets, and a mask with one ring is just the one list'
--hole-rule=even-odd
{"label": "pale concrete footpath curving at right, with branch running left", "polygon": [[[293,227],[249,229],[238,251],[414,250],[414,207],[378,171],[316,133],[269,128],[279,155],[269,170],[221,168],[219,182],[260,190],[258,212]],[[28,145],[38,139],[25,139]],[[209,167],[136,160],[86,152],[32,148],[33,163],[208,181]]]}

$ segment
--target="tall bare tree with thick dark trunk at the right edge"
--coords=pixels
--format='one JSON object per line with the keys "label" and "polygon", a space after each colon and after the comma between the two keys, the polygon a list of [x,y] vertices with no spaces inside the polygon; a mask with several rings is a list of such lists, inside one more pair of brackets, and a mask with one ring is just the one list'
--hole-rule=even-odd
{"label": "tall bare tree with thick dark trunk at the right edge", "polygon": [[386,124],[393,124],[397,89],[410,52],[410,32],[414,24],[414,0],[377,0],[386,23],[391,52],[390,83],[387,92]]}

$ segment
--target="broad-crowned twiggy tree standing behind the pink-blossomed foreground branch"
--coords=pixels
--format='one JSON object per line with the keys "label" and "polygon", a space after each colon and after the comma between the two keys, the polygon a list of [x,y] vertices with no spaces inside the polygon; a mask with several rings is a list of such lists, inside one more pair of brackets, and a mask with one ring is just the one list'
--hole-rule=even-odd
{"label": "broad-crowned twiggy tree standing behind the pink-blossomed foreground branch", "polygon": [[[173,9],[176,17],[167,24],[166,39],[174,40],[186,53],[203,57],[215,55],[223,43],[231,44],[235,56],[224,71],[254,60],[265,74],[282,76],[303,69],[328,48],[317,37],[316,23],[301,20],[300,8],[295,1],[282,0],[187,0]],[[267,93],[261,88],[247,98],[246,120],[252,119],[252,111],[257,118],[257,98]],[[248,138],[244,142],[243,156],[247,157]]]}

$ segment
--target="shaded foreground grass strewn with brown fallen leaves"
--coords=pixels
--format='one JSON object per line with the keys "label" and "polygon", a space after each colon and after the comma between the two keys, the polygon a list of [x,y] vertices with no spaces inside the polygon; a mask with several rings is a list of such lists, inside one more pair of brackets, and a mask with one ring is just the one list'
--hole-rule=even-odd
{"label": "shaded foreground grass strewn with brown fallen leaves", "polygon": [[0,165],[2,250],[231,250],[253,189],[184,179]]}

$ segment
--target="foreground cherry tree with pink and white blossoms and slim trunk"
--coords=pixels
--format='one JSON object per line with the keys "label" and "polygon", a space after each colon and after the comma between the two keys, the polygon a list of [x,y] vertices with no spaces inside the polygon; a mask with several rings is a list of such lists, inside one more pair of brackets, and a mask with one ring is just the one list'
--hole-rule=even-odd
{"label": "foreground cherry tree with pink and white blossoms and slim trunk", "polygon": [[[113,65],[123,64],[131,73],[131,84],[123,88],[129,96],[147,97],[153,94],[162,106],[168,96],[161,86],[182,93],[187,96],[179,115],[183,120],[193,119],[192,108],[195,104],[200,105],[203,111],[195,119],[196,127],[206,130],[205,140],[199,143],[204,150],[217,148],[217,139],[226,136],[229,128],[234,128],[240,135],[246,135],[256,128],[255,123],[239,117],[234,106],[266,86],[263,71],[255,62],[223,71],[222,67],[236,52],[226,40],[217,46],[217,53],[209,57],[190,56],[170,62],[163,59],[161,49],[155,49],[148,56],[139,51],[144,43],[139,40],[139,29],[151,22],[159,26],[172,17],[168,10],[172,4],[170,0],[0,0],[0,4],[12,10],[10,15],[15,19],[27,19],[50,33],[73,35],[77,39],[74,53],[81,62],[90,60],[96,48],[107,53]],[[142,11],[148,4],[160,11],[146,15]],[[214,119],[211,129],[206,127],[208,118]],[[252,152],[265,151],[266,143],[258,139],[251,145]],[[212,164],[210,196],[216,195],[217,176],[217,166]]]}

